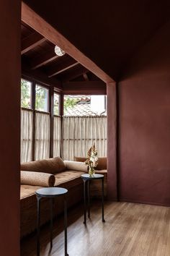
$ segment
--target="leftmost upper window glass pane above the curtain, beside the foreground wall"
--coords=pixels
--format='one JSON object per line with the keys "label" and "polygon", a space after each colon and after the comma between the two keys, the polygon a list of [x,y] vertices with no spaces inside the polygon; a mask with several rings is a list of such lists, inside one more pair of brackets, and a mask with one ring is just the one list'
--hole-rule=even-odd
{"label": "leftmost upper window glass pane above the curtain, beside the foreground wall", "polygon": [[32,83],[22,79],[21,80],[21,106],[22,108],[31,108],[31,90]]}

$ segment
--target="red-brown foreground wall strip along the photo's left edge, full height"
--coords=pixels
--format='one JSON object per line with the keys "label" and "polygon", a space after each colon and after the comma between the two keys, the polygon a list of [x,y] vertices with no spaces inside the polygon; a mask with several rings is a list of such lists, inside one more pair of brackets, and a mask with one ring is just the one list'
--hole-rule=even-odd
{"label": "red-brown foreground wall strip along the photo's left edge, full height", "polygon": [[20,1],[0,1],[0,255],[19,255]]}

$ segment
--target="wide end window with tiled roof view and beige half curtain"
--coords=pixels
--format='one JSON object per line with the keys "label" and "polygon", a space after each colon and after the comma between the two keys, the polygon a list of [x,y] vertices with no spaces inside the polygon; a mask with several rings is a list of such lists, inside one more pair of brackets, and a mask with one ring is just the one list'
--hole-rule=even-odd
{"label": "wide end window with tiled roof view and beige half curtain", "polygon": [[[96,144],[99,156],[107,154],[106,95],[65,95],[62,119],[62,158],[86,157]],[[69,150],[68,150],[69,149]]]}

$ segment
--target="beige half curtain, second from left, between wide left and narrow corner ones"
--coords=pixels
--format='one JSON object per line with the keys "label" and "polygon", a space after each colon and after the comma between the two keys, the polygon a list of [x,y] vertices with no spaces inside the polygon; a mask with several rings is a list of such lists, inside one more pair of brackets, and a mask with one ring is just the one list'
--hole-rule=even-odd
{"label": "beige half curtain, second from left, between wide left and narrow corner ones", "polygon": [[50,157],[50,114],[35,114],[35,160]]}

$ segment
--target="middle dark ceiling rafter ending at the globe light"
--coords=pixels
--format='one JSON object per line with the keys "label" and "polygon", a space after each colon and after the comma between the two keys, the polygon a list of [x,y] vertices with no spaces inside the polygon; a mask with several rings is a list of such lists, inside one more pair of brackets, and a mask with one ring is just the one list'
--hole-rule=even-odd
{"label": "middle dark ceiling rafter ending at the globe light", "polygon": [[35,59],[30,60],[31,69],[37,69],[42,67],[45,64],[48,64],[50,61],[57,59],[58,56],[54,51],[49,51],[41,56],[35,57]]}

